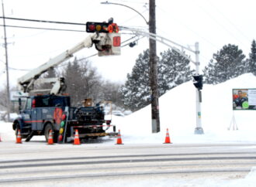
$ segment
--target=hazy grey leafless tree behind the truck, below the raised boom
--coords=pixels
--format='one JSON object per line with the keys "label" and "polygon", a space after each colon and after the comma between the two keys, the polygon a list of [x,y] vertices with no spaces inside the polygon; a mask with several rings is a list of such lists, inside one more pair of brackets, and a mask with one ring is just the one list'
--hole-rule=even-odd
{"label": "hazy grey leafless tree behind the truck, below the raised boom", "polygon": [[71,95],[73,106],[80,105],[81,100],[92,98],[95,103],[108,100],[123,107],[122,95],[119,92],[121,85],[103,80],[88,60],[74,59],[72,63],[67,64],[62,74],[66,80],[67,93]]}

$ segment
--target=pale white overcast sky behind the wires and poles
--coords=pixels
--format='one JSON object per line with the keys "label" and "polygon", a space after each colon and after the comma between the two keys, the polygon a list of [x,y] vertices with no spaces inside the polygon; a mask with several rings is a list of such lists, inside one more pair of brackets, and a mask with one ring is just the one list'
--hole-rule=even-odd
{"label": "pale white overcast sky behind the wires and poles", "polygon": [[[102,22],[110,17],[119,26],[147,29],[147,24],[133,10],[119,5],[102,5],[99,0],[3,0],[5,16],[22,19],[41,19],[61,22]],[[112,0],[135,8],[148,19],[148,1],[146,0]],[[239,46],[248,56],[251,42],[256,38],[256,2],[254,0],[156,0],[157,34],[191,46],[199,42],[201,70],[216,53],[228,43]],[[1,8],[2,9],[2,8]],[[1,11],[2,16],[2,11]],[[2,25],[2,19],[0,20]],[[35,22],[5,20],[8,26],[33,26],[58,29],[85,30],[84,26],[68,26]],[[9,67],[16,69],[33,69],[46,63],[65,50],[71,48],[88,36],[86,32],[50,31],[40,29],[6,28],[9,42]],[[4,42],[3,27],[0,28],[1,43]],[[122,40],[129,39],[126,32]],[[92,66],[108,80],[123,82],[130,73],[139,53],[148,48],[148,39],[140,39],[137,46],[122,48],[121,56],[90,58]],[[157,53],[168,49],[157,43]],[[75,55],[91,56],[94,48],[82,49]],[[193,54],[190,54],[194,58]],[[193,65],[192,65],[193,67]],[[16,79],[26,71],[10,70],[10,82],[16,86]],[[6,82],[5,50],[0,50],[1,87]]]}

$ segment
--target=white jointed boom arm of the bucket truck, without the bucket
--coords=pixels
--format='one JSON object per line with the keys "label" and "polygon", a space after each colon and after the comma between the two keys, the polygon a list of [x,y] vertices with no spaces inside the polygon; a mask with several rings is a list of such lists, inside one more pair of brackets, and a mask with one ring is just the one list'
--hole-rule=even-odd
{"label": "white jointed boom arm of the bucket truck, without the bucket", "polygon": [[56,56],[54,59],[50,59],[47,63],[43,63],[43,65],[31,70],[29,73],[26,73],[26,75],[20,77],[18,79],[18,87],[19,90],[22,90],[24,93],[29,93],[30,91],[36,92],[36,91],[45,91],[45,90],[33,90],[33,86],[35,83],[54,83],[54,86],[52,90],[50,90],[50,93],[60,93],[61,90],[64,90],[65,84],[64,84],[64,78],[58,77],[58,78],[49,78],[49,79],[39,79],[39,77],[47,72],[47,70],[50,70],[50,68],[53,68],[54,66],[57,66],[61,63],[63,63],[65,60],[70,59],[74,53],[78,52],[81,49],[84,48],[90,48],[92,47],[93,43],[95,43],[95,46],[102,46],[106,42],[106,34],[105,33],[94,33],[91,36],[88,36],[85,38],[82,42],[79,42],[76,46],[72,47],[71,49],[67,49],[64,53],[61,53],[60,55]]}

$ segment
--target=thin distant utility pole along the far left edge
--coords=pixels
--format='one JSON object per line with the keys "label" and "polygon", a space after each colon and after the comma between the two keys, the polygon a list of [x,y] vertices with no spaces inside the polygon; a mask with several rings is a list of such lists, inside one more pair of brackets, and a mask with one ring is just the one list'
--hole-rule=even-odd
{"label": "thin distant utility pole along the far left edge", "polygon": [[10,90],[9,90],[9,65],[8,65],[8,53],[7,53],[7,39],[6,39],[6,28],[5,28],[5,8],[2,0],[2,17],[4,23],[4,35],[5,35],[5,66],[6,66],[6,90],[7,90],[7,121],[10,121]]}

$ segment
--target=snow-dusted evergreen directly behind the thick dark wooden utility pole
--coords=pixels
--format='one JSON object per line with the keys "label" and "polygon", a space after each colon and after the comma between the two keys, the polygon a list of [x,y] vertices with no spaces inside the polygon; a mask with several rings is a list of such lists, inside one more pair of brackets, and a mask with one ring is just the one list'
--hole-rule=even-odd
{"label": "snow-dusted evergreen directly behind the thick dark wooden utility pole", "polygon": [[[168,49],[157,59],[157,76],[159,95],[191,79],[189,60],[174,50]],[[138,56],[131,74],[127,75],[126,83],[121,87],[123,103],[130,110],[139,110],[150,104],[150,65],[149,50]]]}

